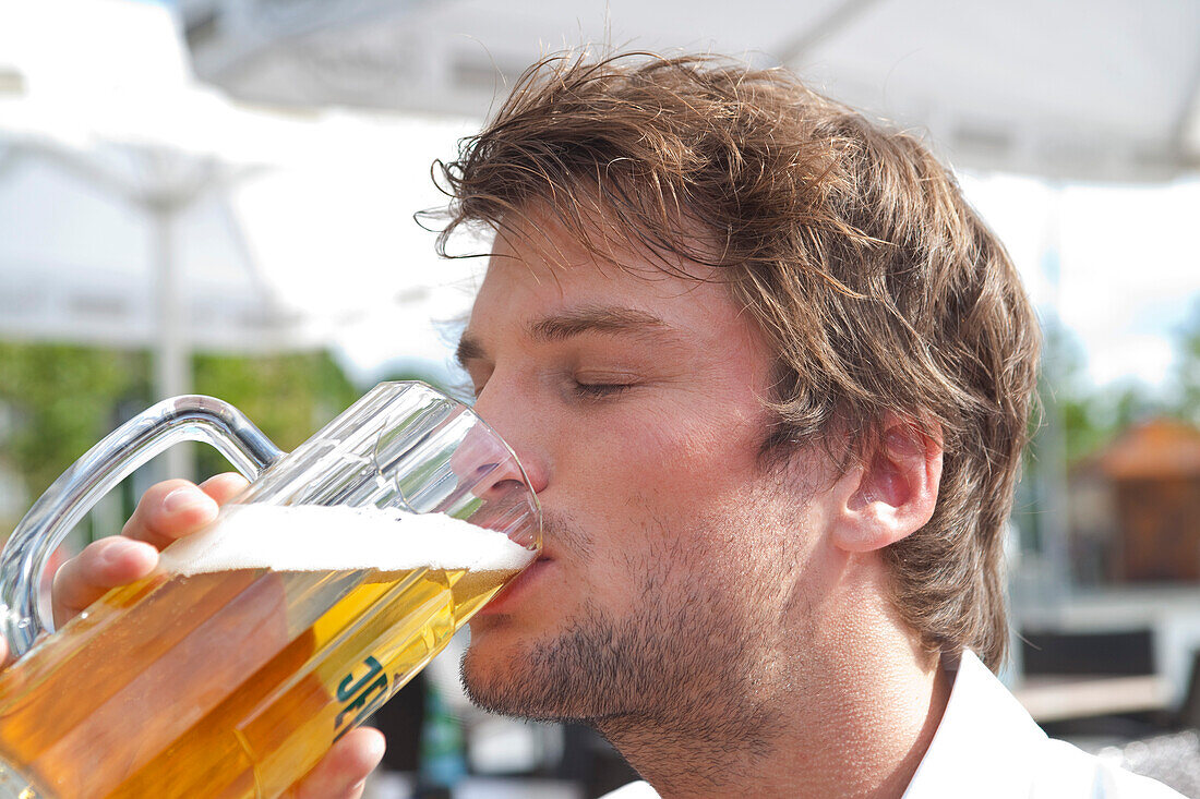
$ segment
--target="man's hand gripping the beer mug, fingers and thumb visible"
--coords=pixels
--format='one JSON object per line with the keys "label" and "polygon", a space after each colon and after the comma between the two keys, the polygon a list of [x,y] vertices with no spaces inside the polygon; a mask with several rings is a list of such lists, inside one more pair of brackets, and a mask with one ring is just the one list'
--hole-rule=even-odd
{"label": "man's hand gripping the beer mug, fingers and thumb visible", "polygon": [[[194,486],[167,480],[142,497],[121,535],[101,539],[62,564],[52,591],[54,625],[61,626],[106,591],[145,577],[158,564],[158,551],[196,533],[216,518],[217,510],[246,487],[238,474],[222,474]],[[8,650],[0,638],[0,660]],[[383,759],[378,729],[359,728],[337,741],[302,780],[289,799],[358,799],[364,781]]]}

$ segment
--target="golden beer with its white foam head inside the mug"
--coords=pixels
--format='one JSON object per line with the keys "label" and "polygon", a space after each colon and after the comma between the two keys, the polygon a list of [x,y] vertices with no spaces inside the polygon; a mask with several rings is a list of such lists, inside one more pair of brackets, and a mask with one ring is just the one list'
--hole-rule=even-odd
{"label": "golden beer with its white foam head inside the mug", "polygon": [[275,797],[533,557],[437,515],[398,536],[348,509],[241,511],[0,674],[0,768],[30,797]]}

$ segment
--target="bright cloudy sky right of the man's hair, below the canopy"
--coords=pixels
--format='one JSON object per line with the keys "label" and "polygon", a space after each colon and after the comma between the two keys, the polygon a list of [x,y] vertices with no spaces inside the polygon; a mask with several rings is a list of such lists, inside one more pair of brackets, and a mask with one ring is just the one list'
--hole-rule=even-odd
{"label": "bright cloudy sky right of the man's hair, below the canopy", "polygon": [[1178,331],[1200,313],[1200,178],[1052,186],[964,175],[962,186],[1043,318],[1057,314],[1082,348],[1092,388],[1169,389]]}

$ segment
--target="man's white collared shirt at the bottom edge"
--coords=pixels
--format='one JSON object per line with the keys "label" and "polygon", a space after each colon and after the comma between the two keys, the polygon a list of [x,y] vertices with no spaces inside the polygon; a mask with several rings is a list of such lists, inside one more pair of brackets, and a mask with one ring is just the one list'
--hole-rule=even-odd
{"label": "man's white collared shirt at the bottom edge", "polygon": [[[604,799],[656,799],[632,782]],[[962,653],[942,722],[902,799],[1182,799],[1052,740],[972,651]]]}

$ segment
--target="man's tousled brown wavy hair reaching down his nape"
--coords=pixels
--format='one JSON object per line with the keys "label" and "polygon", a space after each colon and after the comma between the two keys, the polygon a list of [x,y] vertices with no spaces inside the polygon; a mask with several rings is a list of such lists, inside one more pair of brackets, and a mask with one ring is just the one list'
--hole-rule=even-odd
{"label": "man's tousled brown wavy hair reaching down his nape", "polygon": [[917,138],[784,70],[566,53],[434,172],[443,254],[461,226],[505,228],[538,203],[601,257],[598,214],[665,270],[720,268],[778,358],[764,453],[835,423],[862,452],[893,414],[938,435],[934,516],[883,553],[892,600],[931,655],[998,666],[1038,328],[1003,246]]}

